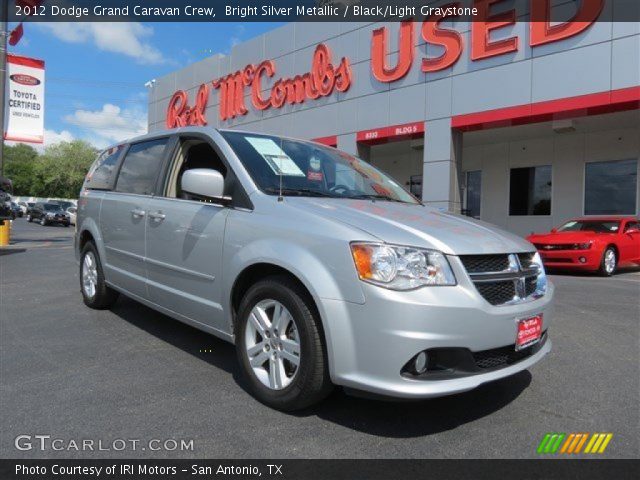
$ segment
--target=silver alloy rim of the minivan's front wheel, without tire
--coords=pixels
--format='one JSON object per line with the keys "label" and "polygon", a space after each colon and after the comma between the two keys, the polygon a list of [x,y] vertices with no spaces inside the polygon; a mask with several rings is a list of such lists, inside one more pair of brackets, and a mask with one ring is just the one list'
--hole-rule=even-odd
{"label": "silver alloy rim of the minivan's front wheel, without tire", "polygon": [[289,386],[300,368],[300,337],[293,316],[277,300],[262,300],[249,313],[245,329],[249,364],[272,389]]}

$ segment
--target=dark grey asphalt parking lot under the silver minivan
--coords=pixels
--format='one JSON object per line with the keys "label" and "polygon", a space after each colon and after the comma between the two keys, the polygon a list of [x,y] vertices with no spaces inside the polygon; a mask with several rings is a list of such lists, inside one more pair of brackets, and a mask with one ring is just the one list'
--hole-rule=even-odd
{"label": "dark grey asphalt parking lot under the silver minivan", "polygon": [[[232,345],[120,297],[84,306],[73,227],[14,222],[0,251],[3,458],[536,458],[547,432],[612,432],[637,458],[640,272],[553,275],[553,351],[465,394],[397,403],[337,389],[273,411],[245,391]],[[193,439],[192,451],[20,451],[18,435]],[[588,455],[580,455],[585,457]]]}

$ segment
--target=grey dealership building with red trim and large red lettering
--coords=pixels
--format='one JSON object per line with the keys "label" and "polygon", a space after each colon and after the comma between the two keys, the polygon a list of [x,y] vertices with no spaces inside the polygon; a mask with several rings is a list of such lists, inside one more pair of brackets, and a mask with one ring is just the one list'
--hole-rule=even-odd
{"label": "grey dealership building with red trim and large red lettering", "polygon": [[594,21],[496,23],[510,2],[493,3],[485,21],[286,24],[158,78],[149,130],[313,139],[520,235],[637,215],[640,23],[603,21],[609,1]]}

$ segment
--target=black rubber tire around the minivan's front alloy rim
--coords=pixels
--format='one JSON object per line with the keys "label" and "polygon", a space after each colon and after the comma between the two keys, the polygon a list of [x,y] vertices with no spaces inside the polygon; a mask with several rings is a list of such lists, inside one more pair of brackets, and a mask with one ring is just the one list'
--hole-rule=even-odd
{"label": "black rubber tire around the minivan's front alloy rim", "polygon": [[[251,310],[260,301],[272,299],[284,305],[293,317],[300,340],[300,364],[291,383],[281,390],[264,385],[249,363],[245,332]],[[238,309],[236,352],[251,393],[262,403],[282,411],[300,410],[323,400],[333,389],[320,318],[309,294],[287,276],[268,277],[254,284]]]}

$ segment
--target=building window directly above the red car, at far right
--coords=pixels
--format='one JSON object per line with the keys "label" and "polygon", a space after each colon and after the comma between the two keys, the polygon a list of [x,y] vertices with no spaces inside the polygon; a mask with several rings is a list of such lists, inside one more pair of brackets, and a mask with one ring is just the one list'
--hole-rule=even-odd
{"label": "building window directly above the red car, at far right", "polygon": [[585,166],[584,214],[633,215],[638,161],[594,162]]}

